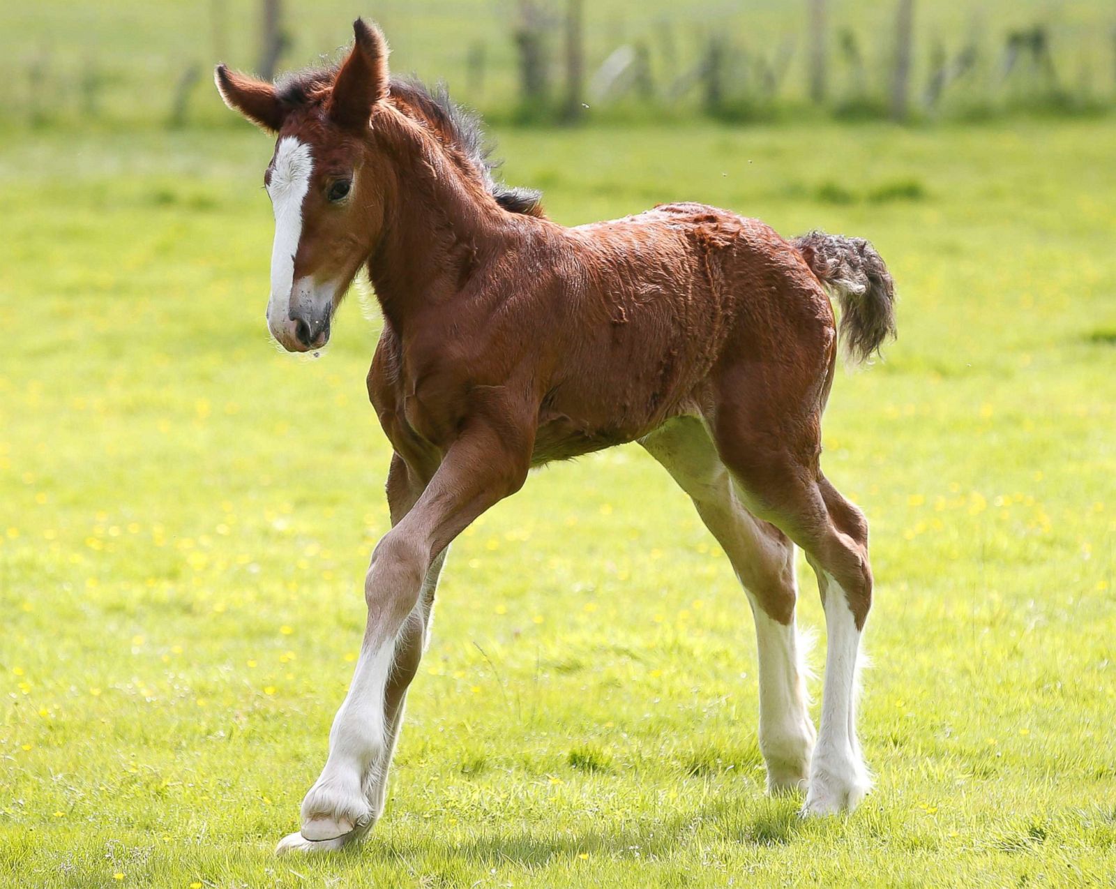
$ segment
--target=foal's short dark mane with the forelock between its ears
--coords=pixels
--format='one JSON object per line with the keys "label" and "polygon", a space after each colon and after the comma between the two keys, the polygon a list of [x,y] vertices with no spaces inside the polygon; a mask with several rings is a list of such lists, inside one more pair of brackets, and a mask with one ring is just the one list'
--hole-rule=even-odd
{"label": "foal's short dark mane with the forelock between its ears", "polygon": [[[337,70],[337,65],[328,65],[286,75],[276,84],[280,101],[295,107],[324,101],[333,88]],[[542,214],[540,192],[510,188],[496,180],[493,172],[500,164],[492,160],[494,145],[485,138],[480,116],[453,102],[445,84],[439,83],[431,89],[417,78],[393,76],[389,98],[400,111],[421,118],[437,131],[443,143],[455,147],[504,210]]]}

